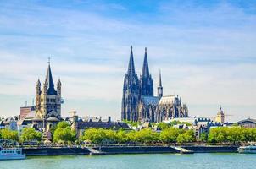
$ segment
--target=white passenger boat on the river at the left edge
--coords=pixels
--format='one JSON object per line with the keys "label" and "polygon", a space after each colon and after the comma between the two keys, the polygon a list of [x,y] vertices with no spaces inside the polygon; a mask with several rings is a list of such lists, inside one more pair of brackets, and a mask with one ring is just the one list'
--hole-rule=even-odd
{"label": "white passenger boat on the river at the left edge", "polygon": [[3,160],[24,160],[21,148],[2,148],[0,147],[0,161]]}

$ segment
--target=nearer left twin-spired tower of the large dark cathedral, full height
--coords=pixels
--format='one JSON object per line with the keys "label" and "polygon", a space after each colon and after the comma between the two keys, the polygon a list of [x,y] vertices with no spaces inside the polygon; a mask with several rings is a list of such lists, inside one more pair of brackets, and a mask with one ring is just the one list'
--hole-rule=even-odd
{"label": "nearer left twin-spired tower of the large dark cathedral, full height", "polygon": [[137,104],[140,98],[140,85],[139,79],[135,72],[133,52],[131,46],[130,61],[128,71],[125,74],[123,98],[122,98],[122,110],[121,119],[128,121],[137,121]]}

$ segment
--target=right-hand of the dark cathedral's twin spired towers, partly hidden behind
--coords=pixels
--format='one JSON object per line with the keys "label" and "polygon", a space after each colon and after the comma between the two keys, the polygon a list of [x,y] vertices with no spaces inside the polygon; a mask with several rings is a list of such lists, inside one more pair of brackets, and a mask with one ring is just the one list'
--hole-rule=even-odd
{"label": "right-hand of the dark cathedral's twin spired towers, partly hidden behind", "polygon": [[153,96],[153,79],[149,74],[148,62],[147,62],[147,47],[145,47],[144,62],[142,67],[142,75],[140,79],[141,96]]}

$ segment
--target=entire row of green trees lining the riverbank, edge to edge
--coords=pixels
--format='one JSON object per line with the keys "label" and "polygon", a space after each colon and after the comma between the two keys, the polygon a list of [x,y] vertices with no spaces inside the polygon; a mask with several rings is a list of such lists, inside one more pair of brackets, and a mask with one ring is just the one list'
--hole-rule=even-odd
{"label": "entire row of green trees lining the riverbank, edge to edge", "polygon": [[[164,126],[164,125],[163,125]],[[103,128],[88,128],[81,136],[76,138],[75,130],[70,128],[66,122],[60,122],[52,128],[53,142],[70,144],[79,141],[88,141],[92,144],[153,144],[153,143],[192,143],[196,142],[193,130],[184,130],[169,126],[162,126],[161,132],[155,132],[150,128],[140,131],[118,131]],[[42,133],[34,128],[24,128],[20,137],[17,131],[7,128],[0,129],[0,139],[19,141],[20,143],[30,141],[42,141]],[[203,133],[200,141],[208,143],[238,144],[242,142],[256,141],[256,128],[212,128],[209,134]]]}

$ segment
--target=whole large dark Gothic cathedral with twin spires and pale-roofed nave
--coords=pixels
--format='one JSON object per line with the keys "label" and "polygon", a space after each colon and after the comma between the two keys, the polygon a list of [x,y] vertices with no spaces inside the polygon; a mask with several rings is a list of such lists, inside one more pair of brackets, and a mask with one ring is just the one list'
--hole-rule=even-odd
{"label": "whole large dark Gothic cathedral with twin spires and pale-roofed nave", "polygon": [[182,104],[178,95],[163,95],[161,73],[159,73],[157,95],[153,95],[153,79],[149,73],[147,48],[145,48],[142,74],[138,78],[131,46],[128,71],[123,86],[121,119],[159,123],[175,117],[188,117],[186,105]]}

